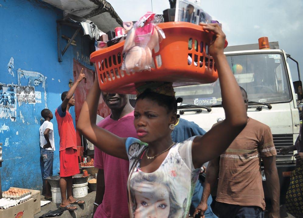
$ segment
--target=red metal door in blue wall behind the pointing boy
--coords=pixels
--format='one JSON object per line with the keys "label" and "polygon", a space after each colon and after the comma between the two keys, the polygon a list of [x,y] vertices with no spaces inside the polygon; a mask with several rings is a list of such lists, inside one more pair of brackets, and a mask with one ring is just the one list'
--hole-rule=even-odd
{"label": "red metal door in blue wall behind the pointing boy", "polygon": [[[74,81],[78,79],[78,76],[81,72],[81,69],[83,68],[83,73],[85,74],[85,79],[82,80],[82,82],[77,86],[77,89],[75,91],[75,115],[76,115],[76,125],[78,122],[79,114],[83,105],[83,102],[86,99],[86,96],[89,93],[90,88],[92,87],[92,84],[95,80],[95,72],[86,68],[82,64],[80,64],[78,61],[74,59],[74,67],[73,67],[73,72],[74,72]],[[110,115],[110,109],[106,106],[106,103],[103,101],[102,96],[100,96],[99,99],[99,106],[98,106],[98,112],[100,116],[106,117]],[[77,146],[82,146],[81,144],[81,135],[76,130],[77,133]]]}

